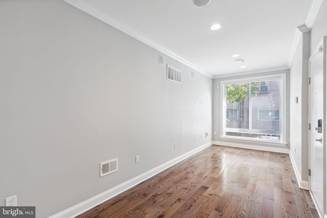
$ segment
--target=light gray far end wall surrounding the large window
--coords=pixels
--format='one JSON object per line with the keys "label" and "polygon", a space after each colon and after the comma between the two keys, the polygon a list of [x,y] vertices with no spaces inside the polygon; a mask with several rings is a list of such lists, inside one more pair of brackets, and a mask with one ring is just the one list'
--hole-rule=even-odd
{"label": "light gray far end wall surrounding the large window", "polygon": [[[276,71],[267,71],[261,72],[257,74],[245,74],[242,76],[227,76],[222,78],[214,79],[213,83],[213,131],[216,132],[216,135],[213,135],[214,143],[222,144],[226,146],[235,146],[235,147],[242,147],[242,148],[249,148],[249,149],[258,149],[258,150],[268,150],[268,151],[275,151],[275,152],[284,152],[288,153],[289,145],[286,146],[273,146],[273,145],[266,145],[263,143],[253,143],[253,142],[245,142],[245,141],[238,141],[238,140],[221,140],[220,139],[220,124],[221,124],[221,108],[220,108],[220,92],[221,90],[221,81],[222,80],[233,80],[233,79],[242,79],[242,78],[250,78],[250,77],[259,77],[259,76],[267,76],[267,75],[274,75],[274,74],[286,74],[286,98],[287,98],[287,117],[289,117],[289,70],[276,70]],[[219,88],[217,88],[219,87]],[[286,138],[288,139],[289,136],[289,120],[286,120]],[[287,140],[288,143],[288,140]]]}

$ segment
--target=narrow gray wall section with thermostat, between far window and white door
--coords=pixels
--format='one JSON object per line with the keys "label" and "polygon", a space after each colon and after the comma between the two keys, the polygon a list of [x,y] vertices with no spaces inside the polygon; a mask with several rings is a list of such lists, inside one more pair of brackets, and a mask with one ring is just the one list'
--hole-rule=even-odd
{"label": "narrow gray wall section with thermostat, between far window and white door", "polygon": [[[308,60],[310,32],[301,38],[290,68],[290,156],[300,187],[308,183]],[[295,103],[298,97],[298,103]]]}

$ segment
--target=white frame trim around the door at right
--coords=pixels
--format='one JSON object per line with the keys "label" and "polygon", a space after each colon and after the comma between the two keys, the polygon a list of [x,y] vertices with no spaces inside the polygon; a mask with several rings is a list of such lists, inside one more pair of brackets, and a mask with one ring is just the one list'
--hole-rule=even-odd
{"label": "white frame trim around the door at right", "polygon": [[[326,216],[326,202],[327,202],[327,198],[326,198],[326,123],[327,123],[327,120],[326,120],[326,96],[327,96],[327,92],[326,92],[326,36],[324,36],[320,42],[318,43],[316,49],[314,50],[314,53],[310,56],[309,60],[308,60],[308,68],[309,68],[309,78],[311,77],[311,65],[310,63],[315,59],[315,57],[320,53],[319,52],[319,47],[322,46],[323,50],[322,50],[322,60],[323,60],[323,72],[322,72],[322,77],[323,77],[323,87],[322,87],[322,92],[323,92],[323,116],[322,116],[322,119],[323,119],[323,124],[322,124],[322,151],[323,151],[323,157],[322,157],[322,161],[323,161],[323,166],[322,166],[322,178],[323,178],[323,181],[322,181],[322,185],[323,185],[323,194],[322,194],[322,207],[323,208],[320,208],[321,211],[318,211],[319,213],[319,216],[323,217],[323,216]],[[308,123],[311,124],[311,130],[308,130],[308,166],[309,166],[309,169],[311,169],[311,135],[310,135],[310,131],[314,131],[313,128],[314,128],[314,122],[315,120],[313,120],[313,122],[311,122],[310,120],[310,104],[311,104],[311,99],[310,99],[310,86],[308,88]],[[312,197],[312,200],[314,201],[314,204],[315,206],[317,205],[317,202],[315,201],[315,199],[313,198],[313,195],[312,195],[312,192],[311,192],[311,177],[309,176],[308,178],[309,180],[309,191],[310,191],[310,195]]]}

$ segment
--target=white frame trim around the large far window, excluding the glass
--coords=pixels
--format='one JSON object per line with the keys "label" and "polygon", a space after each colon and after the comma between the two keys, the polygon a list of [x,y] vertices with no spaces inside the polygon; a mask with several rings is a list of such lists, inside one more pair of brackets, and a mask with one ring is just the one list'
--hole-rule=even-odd
{"label": "white frame trim around the large far window, excluding the glass", "polygon": [[[260,82],[262,80],[275,80],[275,79],[282,79],[282,108],[279,110],[279,114],[282,112],[282,134],[280,141],[267,141],[265,139],[251,139],[247,137],[239,137],[239,136],[228,136],[225,135],[225,128],[226,128],[226,101],[224,99],[224,92],[225,92],[225,85],[231,85],[236,83],[250,83],[250,82]],[[287,145],[287,95],[286,95],[286,73],[285,74],[275,74],[275,75],[267,75],[267,76],[258,76],[258,77],[251,77],[245,79],[232,79],[232,80],[221,80],[220,84],[220,139],[221,140],[232,140],[232,141],[240,141],[240,142],[252,142],[252,143],[260,143],[260,144],[268,144],[272,146],[286,146]]]}

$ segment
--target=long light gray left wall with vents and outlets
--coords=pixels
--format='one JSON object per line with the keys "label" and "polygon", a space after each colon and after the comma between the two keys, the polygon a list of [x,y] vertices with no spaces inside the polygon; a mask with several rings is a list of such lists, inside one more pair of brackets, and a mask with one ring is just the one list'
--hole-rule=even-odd
{"label": "long light gray left wall with vents and outlets", "polygon": [[167,81],[158,51],[62,1],[0,1],[0,27],[1,206],[50,216],[212,140],[210,78],[166,57]]}

